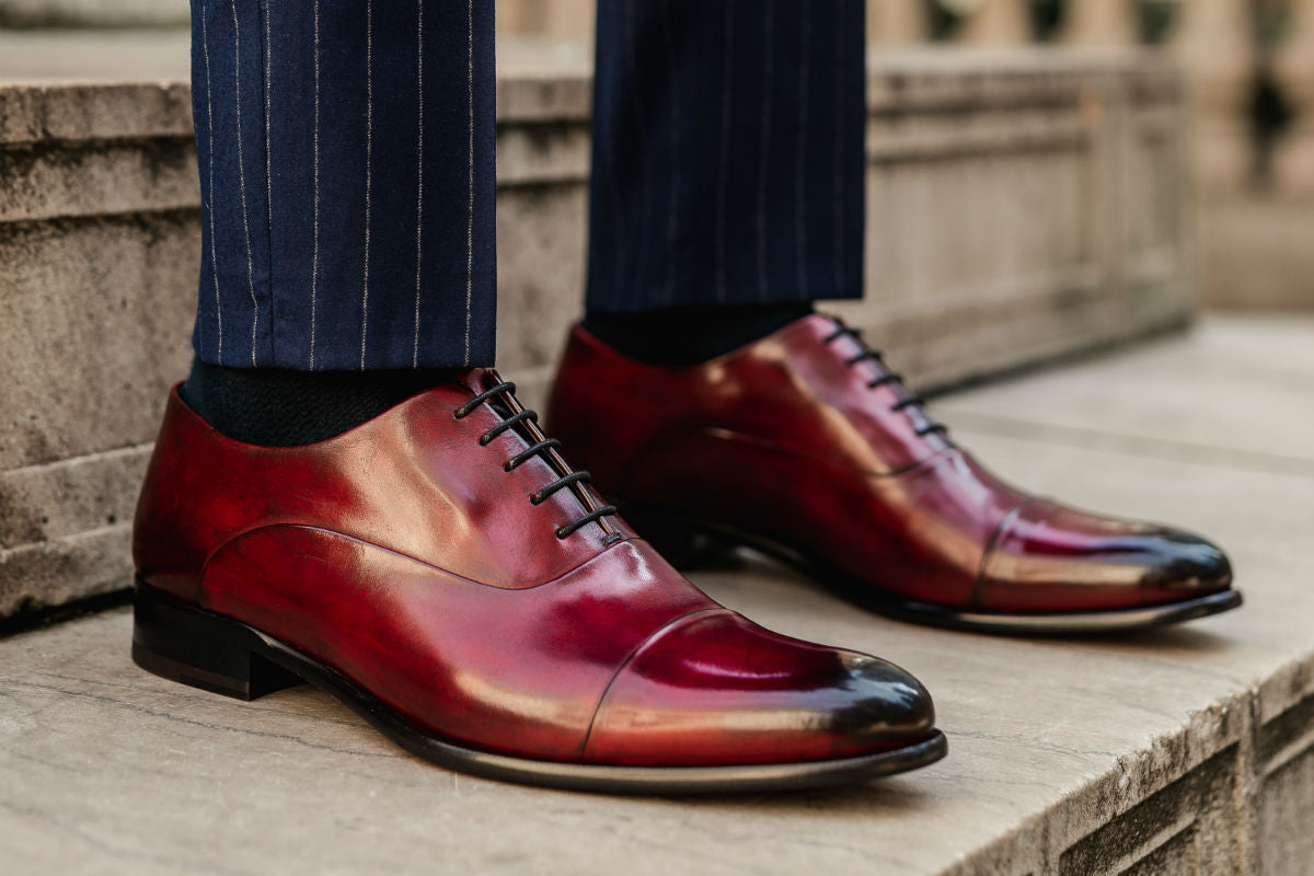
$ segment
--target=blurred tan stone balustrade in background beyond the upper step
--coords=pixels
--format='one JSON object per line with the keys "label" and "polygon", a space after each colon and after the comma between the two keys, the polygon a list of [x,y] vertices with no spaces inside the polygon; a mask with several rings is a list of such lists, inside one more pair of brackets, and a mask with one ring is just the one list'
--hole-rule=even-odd
{"label": "blurred tan stone balustrade in background beyond the upper step", "polygon": [[[3,0],[0,0],[3,1]],[[501,0],[509,34],[585,42],[594,0]],[[1152,45],[1194,101],[1197,294],[1314,307],[1314,0],[867,0],[874,49]]]}

